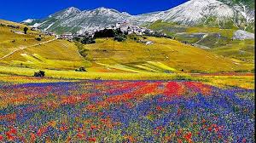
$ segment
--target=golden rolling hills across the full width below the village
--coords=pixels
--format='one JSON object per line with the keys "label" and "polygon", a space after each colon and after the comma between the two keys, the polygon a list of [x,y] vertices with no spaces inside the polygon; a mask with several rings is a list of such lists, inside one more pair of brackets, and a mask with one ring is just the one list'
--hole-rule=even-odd
{"label": "golden rolling hills across the full width below the village", "polygon": [[[8,21],[1,20],[0,23],[8,23]],[[20,27],[15,31],[21,32],[24,25]],[[225,53],[224,48],[212,52],[168,38],[147,37],[147,41],[153,42],[151,45],[131,39],[119,43],[112,38],[96,39],[94,44],[83,45],[44,35],[42,35],[42,41],[37,41],[35,38],[42,33],[28,31],[28,34],[22,34],[11,30],[7,26],[0,26],[0,64],[2,66],[58,71],[74,71],[83,66],[88,72],[141,74],[253,70],[253,64],[234,60],[231,54]],[[196,31],[195,28],[185,30],[191,33]],[[204,30],[207,31],[207,29]],[[15,42],[12,42],[13,40]],[[247,43],[244,44],[247,45]],[[247,48],[245,47],[244,50]],[[248,52],[251,52],[250,50],[248,49]],[[220,56],[219,53],[227,56]],[[250,56],[252,58],[253,54]]]}

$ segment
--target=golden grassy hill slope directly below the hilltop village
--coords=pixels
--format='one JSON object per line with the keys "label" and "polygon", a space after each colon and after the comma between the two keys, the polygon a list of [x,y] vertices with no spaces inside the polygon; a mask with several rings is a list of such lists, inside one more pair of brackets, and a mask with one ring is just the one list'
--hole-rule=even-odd
{"label": "golden grassy hill slope directly below the hilltop village", "polygon": [[95,44],[84,45],[82,55],[101,66],[129,72],[159,72],[166,68],[169,72],[235,72],[252,68],[172,39],[148,37],[147,40],[154,44],[96,39]]}

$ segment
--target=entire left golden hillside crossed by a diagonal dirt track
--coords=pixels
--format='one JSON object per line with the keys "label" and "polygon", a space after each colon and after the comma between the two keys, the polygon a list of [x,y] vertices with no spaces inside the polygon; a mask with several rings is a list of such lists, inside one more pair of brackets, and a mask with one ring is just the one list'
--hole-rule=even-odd
{"label": "entire left golden hillside crossed by a diagonal dirt track", "polygon": [[[0,23],[8,25],[10,22],[0,20]],[[90,66],[80,56],[74,43],[56,40],[55,37],[45,36],[38,31],[29,30],[27,34],[22,34],[24,25],[11,24],[19,25],[20,29],[0,26],[0,64],[59,70]],[[42,37],[41,41],[35,39],[39,35]]]}

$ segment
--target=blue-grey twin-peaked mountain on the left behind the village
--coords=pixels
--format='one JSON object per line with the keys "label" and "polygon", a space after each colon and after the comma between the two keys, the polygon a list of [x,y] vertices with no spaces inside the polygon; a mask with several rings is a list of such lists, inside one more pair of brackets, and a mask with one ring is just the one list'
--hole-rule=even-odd
{"label": "blue-grey twin-peaked mountain on the left behind the village", "polygon": [[34,20],[30,23],[23,22],[29,26],[39,26],[45,31],[55,31],[59,33],[64,31],[83,32],[85,30],[111,26],[119,21],[129,19],[129,17],[131,17],[130,14],[120,13],[115,9],[98,8],[80,11],[72,7],[51,14],[44,20]]}

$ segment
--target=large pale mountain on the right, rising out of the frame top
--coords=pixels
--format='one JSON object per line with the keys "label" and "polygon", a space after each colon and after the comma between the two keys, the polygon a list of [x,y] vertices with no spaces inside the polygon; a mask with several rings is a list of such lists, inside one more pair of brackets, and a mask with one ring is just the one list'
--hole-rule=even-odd
{"label": "large pale mountain on the right, rising out of the frame top", "polygon": [[218,26],[221,28],[254,28],[254,9],[246,3],[230,0],[190,0],[173,9],[151,14],[137,15],[139,23],[174,22],[183,26]]}

